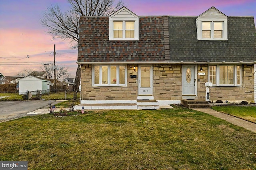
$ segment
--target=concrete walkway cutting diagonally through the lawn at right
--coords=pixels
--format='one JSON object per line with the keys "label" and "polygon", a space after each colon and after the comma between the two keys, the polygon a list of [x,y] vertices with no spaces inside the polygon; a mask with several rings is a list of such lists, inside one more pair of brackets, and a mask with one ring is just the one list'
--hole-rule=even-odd
{"label": "concrete walkway cutting diagonally through the lawn at right", "polygon": [[250,130],[250,131],[256,133],[256,124],[255,123],[248,122],[246,120],[236,118],[236,117],[230,116],[228,114],[217,112],[217,111],[215,111],[213,109],[210,109],[210,108],[195,108],[193,110],[197,110],[197,111],[200,111],[200,112],[210,114],[214,117],[226,120],[227,122],[230,122],[234,125],[237,125],[237,126],[240,126],[240,127],[243,127],[243,128],[246,128],[247,130]]}

